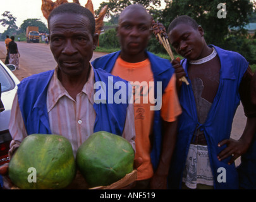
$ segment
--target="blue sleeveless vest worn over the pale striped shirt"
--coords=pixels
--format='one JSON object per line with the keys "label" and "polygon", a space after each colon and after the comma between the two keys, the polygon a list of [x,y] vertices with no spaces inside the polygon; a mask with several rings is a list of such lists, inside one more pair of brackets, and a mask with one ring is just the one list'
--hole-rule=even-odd
{"label": "blue sleeveless vest worn over the pale striped shirt", "polygon": [[[25,78],[21,81],[20,85],[18,85],[18,102],[28,134],[51,134],[47,114],[46,95],[49,81],[51,80],[53,73],[54,70],[34,74]],[[121,80],[121,78],[103,71],[102,69],[94,69],[95,81],[103,81],[107,86],[109,76],[113,77],[114,83],[116,81],[125,82],[126,103],[94,103],[94,109],[96,112],[94,132],[107,131],[121,136],[125,126],[126,108],[128,107],[128,85],[130,84],[125,80]],[[114,89],[113,95],[117,91],[118,89]],[[97,90],[95,90],[95,92],[97,92]],[[106,93],[106,95],[108,94]],[[108,100],[108,97],[106,98]]]}

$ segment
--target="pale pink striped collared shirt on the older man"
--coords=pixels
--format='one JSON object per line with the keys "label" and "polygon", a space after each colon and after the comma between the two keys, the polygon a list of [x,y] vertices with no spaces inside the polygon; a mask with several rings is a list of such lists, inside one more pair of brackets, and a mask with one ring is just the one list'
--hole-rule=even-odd
{"label": "pale pink striped collared shirt on the older man", "polygon": [[[59,134],[67,138],[73,148],[74,156],[78,147],[94,133],[94,122],[96,113],[94,110],[94,71],[90,71],[87,83],[82,92],[76,95],[74,100],[58,80],[57,70],[51,78],[47,90],[47,112],[52,134]],[[18,97],[15,96],[9,131],[13,140],[11,141],[9,156],[13,154],[21,141],[27,136],[27,131],[22,119]],[[135,149],[135,124],[133,105],[129,104],[126,113],[125,128],[122,134]]]}

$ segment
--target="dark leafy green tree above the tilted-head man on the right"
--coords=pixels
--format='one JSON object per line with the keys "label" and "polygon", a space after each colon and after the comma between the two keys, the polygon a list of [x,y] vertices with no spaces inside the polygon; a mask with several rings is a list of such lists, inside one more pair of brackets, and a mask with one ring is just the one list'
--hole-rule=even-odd
{"label": "dark leafy green tree above the tilted-head man on the right", "polygon": [[253,11],[250,0],[226,0],[226,18],[218,18],[219,0],[165,1],[166,8],[161,20],[166,28],[176,16],[188,15],[204,28],[207,43],[216,45],[224,44],[230,27],[239,27],[239,30],[243,30],[248,23],[248,16]]}

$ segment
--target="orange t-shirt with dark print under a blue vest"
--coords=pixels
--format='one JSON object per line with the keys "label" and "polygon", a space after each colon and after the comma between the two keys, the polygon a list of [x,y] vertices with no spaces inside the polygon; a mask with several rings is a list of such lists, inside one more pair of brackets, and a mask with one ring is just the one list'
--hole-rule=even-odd
{"label": "orange t-shirt with dark print under a blue vest", "polygon": [[[142,165],[137,170],[138,180],[149,179],[154,174],[150,160],[150,134],[152,134],[154,123],[154,110],[150,110],[150,106],[154,106],[154,103],[150,102],[152,98],[154,99],[154,85],[150,85],[150,81],[154,81],[150,61],[146,59],[142,62],[130,63],[118,57],[111,74],[127,81],[133,81],[131,85],[135,86],[133,87],[135,158],[142,157],[143,159]],[[181,114],[175,83],[176,77],[173,74],[165,92],[162,93],[161,117],[164,121],[175,121],[176,117]]]}

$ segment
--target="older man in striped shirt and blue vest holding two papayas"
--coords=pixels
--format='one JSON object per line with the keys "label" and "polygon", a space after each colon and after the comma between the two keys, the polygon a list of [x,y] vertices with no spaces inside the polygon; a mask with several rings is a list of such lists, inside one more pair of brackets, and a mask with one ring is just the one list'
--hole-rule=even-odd
{"label": "older man in striped shirt and blue vest holding two papayas", "polygon": [[[76,3],[61,4],[51,12],[48,25],[51,51],[58,66],[25,78],[18,86],[9,125],[13,137],[10,157],[21,141],[34,133],[59,134],[68,138],[74,155],[83,141],[97,131],[123,136],[135,148],[128,82],[102,69],[94,69],[90,64],[98,40],[92,13]],[[108,88],[109,78],[112,85],[121,82],[125,88]],[[107,93],[105,96],[101,93],[96,101],[94,95],[98,88],[94,88],[94,84],[97,82],[106,85]],[[121,92],[127,98],[120,104],[109,104],[109,99],[113,99],[107,96],[109,91],[110,95]],[[76,180],[81,179],[81,175],[76,175]]]}

